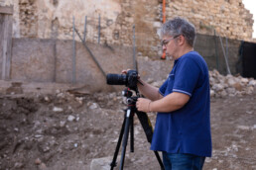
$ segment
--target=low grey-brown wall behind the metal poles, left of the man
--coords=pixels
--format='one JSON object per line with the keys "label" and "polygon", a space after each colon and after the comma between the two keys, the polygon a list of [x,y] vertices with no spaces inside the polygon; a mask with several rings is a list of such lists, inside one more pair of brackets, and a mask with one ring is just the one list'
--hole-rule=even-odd
{"label": "low grey-brown wall behind the metal poles, left of the man", "polygon": [[[131,47],[90,42],[87,45],[105,73],[120,74],[121,70],[134,67]],[[72,41],[13,39],[12,54],[12,81],[72,83]],[[105,77],[81,42],[76,42],[75,58],[76,85],[82,84],[90,92],[109,88]],[[139,72],[143,79],[163,80],[172,65],[172,61],[138,58]]]}

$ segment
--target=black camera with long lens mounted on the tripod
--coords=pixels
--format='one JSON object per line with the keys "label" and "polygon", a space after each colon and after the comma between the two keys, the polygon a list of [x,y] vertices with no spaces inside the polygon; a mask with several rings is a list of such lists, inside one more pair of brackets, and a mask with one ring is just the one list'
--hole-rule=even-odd
{"label": "black camera with long lens mounted on the tripod", "polygon": [[109,85],[125,85],[126,87],[137,90],[138,72],[129,70],[127,74],[107,74],[106,82]]}

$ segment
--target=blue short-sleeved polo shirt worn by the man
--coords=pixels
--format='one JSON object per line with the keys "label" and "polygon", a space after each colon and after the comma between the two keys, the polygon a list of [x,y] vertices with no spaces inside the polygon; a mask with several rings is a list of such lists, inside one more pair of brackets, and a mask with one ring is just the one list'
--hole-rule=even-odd
{"label": "blue short-sleeved polo shirt worn by the man", "polygon": [[175,60],[168,79],[160,87],[164,97],[172,92],[190,96],[180,110],[158,113],[151,149],[169,153],[211,156],[208,68],[195,51]]}

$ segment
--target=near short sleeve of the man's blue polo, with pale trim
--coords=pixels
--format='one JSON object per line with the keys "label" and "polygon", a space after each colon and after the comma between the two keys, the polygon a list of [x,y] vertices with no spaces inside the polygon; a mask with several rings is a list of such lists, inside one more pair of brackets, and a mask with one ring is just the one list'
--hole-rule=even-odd
{"label": "near short sleeve of the man's blue polo, with pale trim", "polygon": [[184,58],[179,63],[175,73],[173,92],[180,92],[192,96],[200,74],[199,65],[190,57]]}

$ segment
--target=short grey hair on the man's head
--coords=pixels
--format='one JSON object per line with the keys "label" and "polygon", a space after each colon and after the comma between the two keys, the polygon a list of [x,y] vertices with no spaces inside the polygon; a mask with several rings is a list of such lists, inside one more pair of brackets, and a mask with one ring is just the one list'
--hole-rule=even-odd
{"label": "short grey hair on the man's head", "polygon": [[195,40],[195,29],[192,23],[188,20],[176,17],[173,20],[167,21],[161,28],[160,36],[180,36],[183,35],[186,41],[193,46]]}

